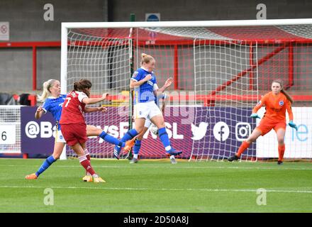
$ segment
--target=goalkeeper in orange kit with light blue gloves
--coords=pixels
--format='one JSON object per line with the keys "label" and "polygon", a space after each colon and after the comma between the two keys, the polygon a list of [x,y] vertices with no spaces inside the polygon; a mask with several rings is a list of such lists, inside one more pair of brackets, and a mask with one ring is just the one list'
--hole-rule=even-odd
{"label": "goalkeeper in orange kit with light blue gloves", "polygon": [[257,111],[262,106],[265,106],[266,111],[260,121],[260,125],[252,131],[247,140],[243,141],[238,149],[238,153],[229,157],[228,161],[232,162],[233,160],[238,160],[240,155],[250,146],[250,143],[257,140],[260,135],[269,133],[273,128],[277,133],[277,141],[279,143],[279,160],[277,161],[277,164],[281,165],[283,163],[285,151],[284,136],[286,131],[286,110],[289,115],[289,126],[298,130],[296,124],[293,122],[294,115],[291,111],[291,104],[294,101],[291,99],[291,96],[284,91],[281,79],[274,80],[271,88],[272,92],[268,92],[262,97],[261,101],[259,101],[257,106],[252,110],[250,116],[252,118],[260,118]]}

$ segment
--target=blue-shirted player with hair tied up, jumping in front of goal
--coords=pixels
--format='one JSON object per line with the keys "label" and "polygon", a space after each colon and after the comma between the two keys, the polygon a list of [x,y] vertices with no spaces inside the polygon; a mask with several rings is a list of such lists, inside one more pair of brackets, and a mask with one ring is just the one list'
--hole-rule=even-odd
{"label": "blue-shirted player with hair tied up, jumping in front of goal", "polygon": [[[130,140],[135,138],[141,131],[143,131],[145,120],[150,118],[150,121],[159,128],[159,137],[162,144],[165,147],[166,154],[179,155],[182,151],[175,151],[171,144],[165,128],[164,117],[162,112],[155,104],[155,96],[157,92],[163,92],[167,87],[158,88],[157,80],[153,72],[155,68],[154,57],[146,54],[142,54],[141,67],[133,73],[130,79],[130,89],[134,89],[135,100],[134,100],[134,118],[135,118],[135,128],[129,130],[121,141]],[[113,155],[117,159],[119,158],[119,153],[121,148],[117,145],[113,150]]]}

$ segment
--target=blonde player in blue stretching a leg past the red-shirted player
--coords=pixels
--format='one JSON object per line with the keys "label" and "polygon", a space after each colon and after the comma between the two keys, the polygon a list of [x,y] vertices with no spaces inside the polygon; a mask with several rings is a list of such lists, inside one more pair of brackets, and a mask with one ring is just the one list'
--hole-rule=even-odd
{"label": "blonde player in blue stretching a leg past the red-shirted player", "polygon": [[[66,99],[66,94],[60,94],[60,82],[56,79],[49,79],[47,82],[43,83],[43,94],[38,97],[38,101],[44,101],[43,106],[39,106],[37,111],[35,112],[35,118],[39,119],[46,112],[50,112],[57,124],[57,130],[55,135],[55,145],[52,155],[50,155],[44,162],[43,165],[38,169],[37,172],[27,175],[26,179],[38,179],[39,175],[42,174],[45,170],[52,165],[57,159],[60,158],[62,154],[62,150],[65,147],[66,141],[62,135],[62,131],[60,128],[60,118],[62,115],[62,104]],[[107,109],[103,106],[101,107],[87,107],[85,108],[85,113],[90,113],[94,111],[102,111],[106,112]],[[87,136],[99,136],[102,139],[106,140],[108,143],[113,143],[115,145],[119,145],[123,148],[126,146],[134,145],[134,140],[127,141],[123,143],[118,139],[114,138],[111,135],[108,135],[100,128],[96,128],[95,126],[87,126]],[[90,154],[87,149],[84,148],[84,154],[87,159],[90,160]],[[85,182],[91,182],[92,177],[90,175],[86,175],[83,180]]]}

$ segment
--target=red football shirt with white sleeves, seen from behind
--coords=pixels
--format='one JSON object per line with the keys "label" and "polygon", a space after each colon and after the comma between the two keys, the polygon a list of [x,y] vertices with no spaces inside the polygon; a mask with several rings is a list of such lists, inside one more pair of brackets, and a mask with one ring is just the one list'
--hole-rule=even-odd
{"label": "red football shirt with white sleeves, seen from behind", "polygon": [[82,102],[82,99],[87,98],[87,94],[84,92],[70,92],[62,106],[62,116],[60,124],[69,123],[86,123],[84,121],[84,107],[86,104]]}

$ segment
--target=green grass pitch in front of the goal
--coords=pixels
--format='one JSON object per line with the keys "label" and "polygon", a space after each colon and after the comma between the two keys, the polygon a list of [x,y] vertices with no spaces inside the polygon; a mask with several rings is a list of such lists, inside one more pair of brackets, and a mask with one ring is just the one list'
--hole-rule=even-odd
{"label": "green grass pitch in front of the goal", "polygon": [[[0,159],[1,212],[311,212],[312,163],[91,160],[104,184],[82,182],[78,160]],[[45,189],[54,204],[44,204]],[[266,205],[257,189],[266,189]],[[49,193],[49,196],[51,194]]]}

